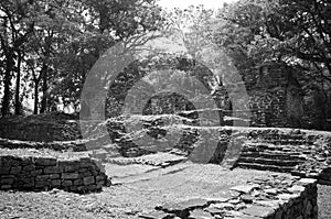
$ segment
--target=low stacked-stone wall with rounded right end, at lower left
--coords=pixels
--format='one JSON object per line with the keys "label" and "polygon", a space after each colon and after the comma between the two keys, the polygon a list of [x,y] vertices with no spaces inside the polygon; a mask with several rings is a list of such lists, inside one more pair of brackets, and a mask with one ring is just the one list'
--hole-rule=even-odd
{"label": "low stacked-stone wall with rounded right end, at lower left", "polygon": [[99,191],[108,178],[94,160],[0,156],[0,188],[18,190]]}

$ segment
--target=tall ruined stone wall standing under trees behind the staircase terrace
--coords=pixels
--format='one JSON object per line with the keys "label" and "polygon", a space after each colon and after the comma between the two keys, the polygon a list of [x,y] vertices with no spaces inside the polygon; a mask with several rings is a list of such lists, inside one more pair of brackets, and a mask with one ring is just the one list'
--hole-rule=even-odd
{"label": "tall ruined stone wall standing under trees behind the staircase terrace", "polygon": [[301,127],[302,90],[293,72],[275,63],[242,72],[249,96],[252,125]]}

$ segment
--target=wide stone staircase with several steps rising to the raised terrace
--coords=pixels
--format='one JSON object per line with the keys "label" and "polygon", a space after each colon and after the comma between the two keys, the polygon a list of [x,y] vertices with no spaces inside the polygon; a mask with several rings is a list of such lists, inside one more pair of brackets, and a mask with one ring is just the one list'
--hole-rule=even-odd
{"label": "wide stone staircase with several steps rising to the raised terrace", "polygon": [[292,173],[313,153],[313,140],[302,133],[274,133],[245,142],[236,167]]}

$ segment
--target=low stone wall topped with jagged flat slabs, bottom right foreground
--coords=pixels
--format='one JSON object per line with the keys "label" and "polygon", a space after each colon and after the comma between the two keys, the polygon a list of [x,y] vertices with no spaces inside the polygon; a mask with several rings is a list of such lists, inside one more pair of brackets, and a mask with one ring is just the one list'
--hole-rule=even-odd
{"label": "low stone wall topped with jagged flat slabs, bottom right foreground", "polygon": [[194,198],[156,207],[140,218],[317,219],[317,180],[273,174],[229,188],[231,197]]}

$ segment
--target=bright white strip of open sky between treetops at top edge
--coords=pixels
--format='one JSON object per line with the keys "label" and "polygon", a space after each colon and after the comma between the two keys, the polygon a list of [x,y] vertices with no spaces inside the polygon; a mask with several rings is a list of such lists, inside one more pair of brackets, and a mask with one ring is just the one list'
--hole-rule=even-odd
{"label": "bright white strip of open sky between treetops at top edge", "polygon": [[237,0],[159,0],[159,6],[168,9],[180,8],[185,9],[190,6],[203,4],[206,9],[218,9],[223,3],[231,3]]}

